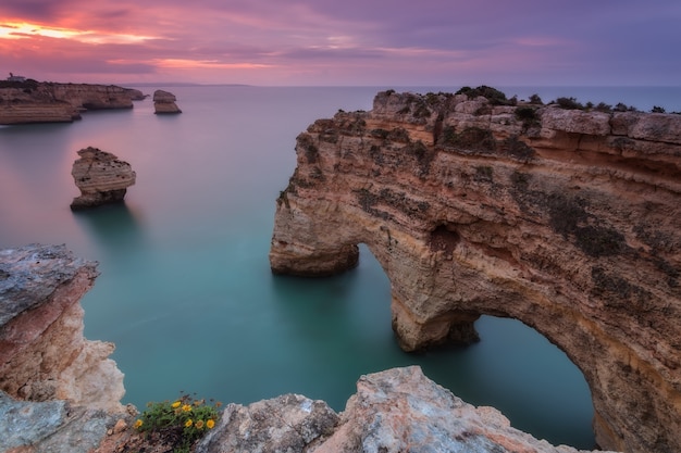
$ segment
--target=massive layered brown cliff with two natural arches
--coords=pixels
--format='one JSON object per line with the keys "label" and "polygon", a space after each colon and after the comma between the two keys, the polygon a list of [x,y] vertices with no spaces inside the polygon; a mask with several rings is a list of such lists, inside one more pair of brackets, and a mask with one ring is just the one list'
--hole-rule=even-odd
{"label": "massive layered brown cliff with two natural arches", "polygon": [[681,116],[386,91],[297,138],[275,274],[329,275],[366,243],[413,351],[512,317],[592,391],[603,448],[681,451]]}

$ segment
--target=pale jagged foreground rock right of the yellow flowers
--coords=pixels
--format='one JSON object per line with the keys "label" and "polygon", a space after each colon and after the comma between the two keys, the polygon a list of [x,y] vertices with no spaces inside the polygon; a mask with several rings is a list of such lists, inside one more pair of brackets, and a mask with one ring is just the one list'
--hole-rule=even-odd
{"label": "pale jagged foreground rock right of the yellow flowers", "polygon": [[467,452],[577,453],[511,428],[493,407],[474,407],[418,366],[362,376],[346,410],[289,394],[231,404],[197,453]]}

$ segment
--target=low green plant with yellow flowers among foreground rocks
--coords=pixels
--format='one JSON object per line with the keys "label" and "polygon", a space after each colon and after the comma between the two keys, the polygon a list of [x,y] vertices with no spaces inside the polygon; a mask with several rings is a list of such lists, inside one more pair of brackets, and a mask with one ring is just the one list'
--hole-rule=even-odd
{"label": "low green plant with yellow flowers among foreground rocks", "polygon": [[188,452],[207,430],[214,428],[220,406],[219,402],[207,404],[206,400],[195,400],[186,394],[175,401],[147,403],[135,428],[173,445],[173,452]]}

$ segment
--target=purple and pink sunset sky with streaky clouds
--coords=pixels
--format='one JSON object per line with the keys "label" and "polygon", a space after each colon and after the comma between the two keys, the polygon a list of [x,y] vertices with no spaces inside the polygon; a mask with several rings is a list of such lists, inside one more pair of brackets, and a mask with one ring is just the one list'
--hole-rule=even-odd
{"label": "purple and pink sunset sky with streaky clouds", "polygon": [[679,0],[2,0],[0,78],[680,86],[680,24]]}

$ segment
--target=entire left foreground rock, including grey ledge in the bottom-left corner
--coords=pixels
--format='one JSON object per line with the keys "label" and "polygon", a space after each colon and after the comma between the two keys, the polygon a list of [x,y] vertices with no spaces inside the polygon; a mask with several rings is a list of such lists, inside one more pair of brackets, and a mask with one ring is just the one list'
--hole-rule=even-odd
{"label": "entire left foreground rock, including grey ledge in the bottom-left corner", "polygon": [[113,344],[83,338],[95,263],[63,246],[0,250],[0,452],[87,452],[129,418]]}

